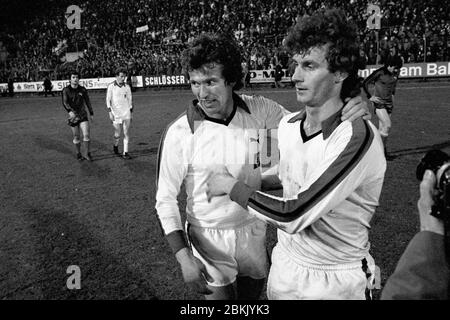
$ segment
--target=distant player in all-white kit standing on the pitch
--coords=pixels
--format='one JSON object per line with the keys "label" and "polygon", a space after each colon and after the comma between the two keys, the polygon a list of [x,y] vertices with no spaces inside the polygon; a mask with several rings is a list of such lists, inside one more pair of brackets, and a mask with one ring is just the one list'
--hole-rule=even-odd
{"label": "distant player in all-white kit standing on the pitch", "polygon": [[123,154],[124,159],[131,159],[128,154],[128,144],[130,142],[131,113],[133,112],[133,100],[131,89],[125,83],[127,72],[125,68],[116,70],[116,80],[112,82],[106,91],[106,107],[109,118],[114,127],[114,153],[119,153],[119,139],[123,128]]}

